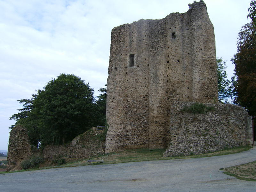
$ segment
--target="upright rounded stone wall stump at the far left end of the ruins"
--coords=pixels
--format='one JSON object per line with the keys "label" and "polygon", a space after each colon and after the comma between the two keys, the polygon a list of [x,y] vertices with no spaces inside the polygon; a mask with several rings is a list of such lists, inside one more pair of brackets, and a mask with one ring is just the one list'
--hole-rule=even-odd
{"label": "upright rounded stone wall stump at the far left end of the ruins", "polygon": [[31,156],[31,154],[27,130],[23,126],[17,125],[10,132],[7,171],[22,169],[20,163]]}

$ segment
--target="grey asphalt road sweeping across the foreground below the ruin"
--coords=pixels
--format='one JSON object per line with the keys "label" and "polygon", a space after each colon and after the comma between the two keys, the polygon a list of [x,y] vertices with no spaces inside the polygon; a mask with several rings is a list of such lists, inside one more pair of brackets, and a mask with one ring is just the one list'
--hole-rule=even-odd
{"label": "grey asphalt road sweeping across the foreground below the ruin", "polygon": [[252,192],[256,182],[237,180],[219,169],[255,160],[256,147],[226,156],[16,172],[0,174],[0,191]]}

